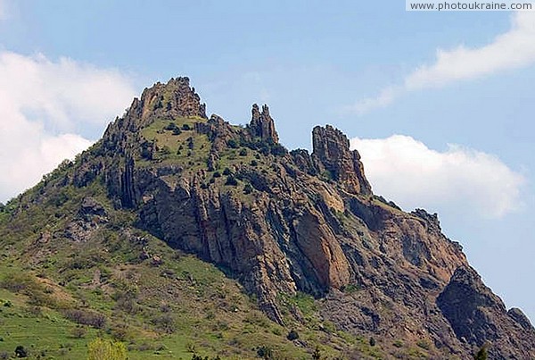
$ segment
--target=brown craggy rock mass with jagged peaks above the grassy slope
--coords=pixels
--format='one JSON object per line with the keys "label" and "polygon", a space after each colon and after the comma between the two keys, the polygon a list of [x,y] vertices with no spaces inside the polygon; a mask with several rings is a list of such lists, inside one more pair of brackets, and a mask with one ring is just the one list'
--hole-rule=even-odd
{"label": "brown craggy rock mass with jagged peaks above the grassy slope", "polygon": [[318,126],[312,142],[288,153],[266,105],[245,128],[207,119],[178,78],[145,89],[65,181],[103,181],[136,226],[226,269],[276,322],[281,294],[300,291],[339,329],[423,341],[436,358],[487,341],[491,358],[535,356],[529,321],[482,285],[436,214],[375,197],[340,130]]}

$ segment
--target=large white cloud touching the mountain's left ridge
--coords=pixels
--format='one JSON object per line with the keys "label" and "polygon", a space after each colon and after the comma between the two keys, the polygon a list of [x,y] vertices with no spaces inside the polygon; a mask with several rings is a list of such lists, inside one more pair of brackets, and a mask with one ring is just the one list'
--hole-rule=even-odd
{"label": "large white cloud touching the mountain's left ridge", "polygon": [[[0,0],[1,1],[1,0]],[[37,183],[92,141],[134,96],[119,71],[44,55],[0,52],[0,201]]]}

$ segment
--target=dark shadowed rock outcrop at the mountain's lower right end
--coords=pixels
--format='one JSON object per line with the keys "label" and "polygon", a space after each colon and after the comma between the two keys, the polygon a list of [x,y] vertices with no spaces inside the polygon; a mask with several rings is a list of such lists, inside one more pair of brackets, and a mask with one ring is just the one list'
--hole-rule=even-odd
{"label": "dark shadowed rock outcrop at the mountain's lower right end", "polygon": [[[437,297],[457,339],[476,347],[489,343],[491,359],[535,357],[535,331],[525,315],[506,306],[469,266],[459,267]],[[519,346],[522,344],[522,346]]]}

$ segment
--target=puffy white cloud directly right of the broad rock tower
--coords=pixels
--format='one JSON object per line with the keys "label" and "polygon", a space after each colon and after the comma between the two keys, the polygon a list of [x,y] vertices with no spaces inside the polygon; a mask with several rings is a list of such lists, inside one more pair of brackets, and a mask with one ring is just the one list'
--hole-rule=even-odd
{"label": "puffy white cloud directly right of the broad rock tower", "polygon": [[405,209],[453,206],[458,213],[499,218],[522,206],[526,180],[494,155],[455,145],[438,152],[402,135],[352,138],[350,144],[362,155],[374,193]]}

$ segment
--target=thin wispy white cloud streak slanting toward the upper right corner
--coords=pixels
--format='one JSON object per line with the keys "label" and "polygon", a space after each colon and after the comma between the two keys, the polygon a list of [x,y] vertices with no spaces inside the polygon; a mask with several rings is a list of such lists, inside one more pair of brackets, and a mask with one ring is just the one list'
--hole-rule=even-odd
{"label": "thin wispy white cloud streak slanting toward the upper right corner", "polygon": [[349,107],[363,114],[391,104],[405,92],[440,88],[454,81],[478,79],[499,71],[518,69],[535,63],[535,13],[514,13],[511,28],[481,47],[458,46],[438,49],[431,65],[422,65],[408,74],[402,85],[383,89],[379,96],[366,98]]}

